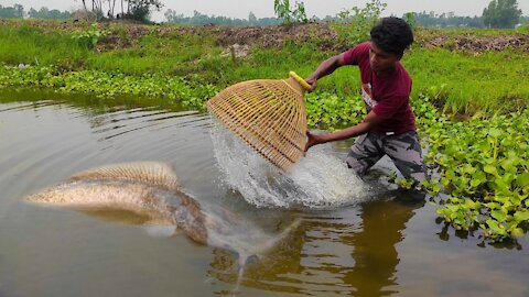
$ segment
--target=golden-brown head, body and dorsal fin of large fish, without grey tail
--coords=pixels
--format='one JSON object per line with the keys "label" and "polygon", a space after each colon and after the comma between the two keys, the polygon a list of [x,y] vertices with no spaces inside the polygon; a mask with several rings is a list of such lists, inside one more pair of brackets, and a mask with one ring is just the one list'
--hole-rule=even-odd
{"label": "golden-brown head, body and dorsal fin of large fish, without grey tail", "polygon": [[171,165],[127,163],[83,172],[28,201],[67,207],[89,213],[132,212],[148,226],[175,226],[198,243],[207,244],[206,218],[198,202],[182,193]]}

